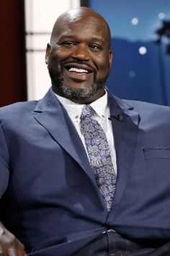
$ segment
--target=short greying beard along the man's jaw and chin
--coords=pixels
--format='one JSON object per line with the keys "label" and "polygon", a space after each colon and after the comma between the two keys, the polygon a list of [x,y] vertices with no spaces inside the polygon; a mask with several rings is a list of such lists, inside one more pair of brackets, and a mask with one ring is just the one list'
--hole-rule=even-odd
{"label": "short greying beard along the man's jaw and chin", "polygon": [[55,69],[49,67],[48,65],[48,72],[52,81],[53,91],[59,92],[61,96],[63,96],[64,98],[68,98],[71,101],[86,100],[91,96],[95,95],[99,92],[100,89],[104,88],[109,77],[109,69],[106,76],[100,80],[97,80],[97,72],[94,72],[94,79],[91,88],[82,89],[71,88],[69,87],[69,85],[65,84],[63,80],[63,69],[61,69],[61,72],[58,72]]}

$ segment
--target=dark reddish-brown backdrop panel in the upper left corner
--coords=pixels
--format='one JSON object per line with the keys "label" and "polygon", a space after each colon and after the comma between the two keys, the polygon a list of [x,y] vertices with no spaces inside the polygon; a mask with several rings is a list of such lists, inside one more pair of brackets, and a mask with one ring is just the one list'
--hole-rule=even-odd
{"label": "dark reddish-brown backdrop panel in the upper left corner", "polygon": [[24,1],[0,1],[0,106],[27,99]]}

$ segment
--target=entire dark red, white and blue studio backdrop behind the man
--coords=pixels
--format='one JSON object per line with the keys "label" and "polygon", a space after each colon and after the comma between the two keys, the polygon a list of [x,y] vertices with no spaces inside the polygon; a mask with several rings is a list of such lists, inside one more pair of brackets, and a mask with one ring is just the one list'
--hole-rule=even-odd
{"label": "entire dark red, white and blue studio backdrop behind the man", "polygon": [[45,48],[62,12],[91,7],[109,23],[114,59],[107,87],[120,98],[170,106],[169,0],[1,1],[0,106],[50,88]]}

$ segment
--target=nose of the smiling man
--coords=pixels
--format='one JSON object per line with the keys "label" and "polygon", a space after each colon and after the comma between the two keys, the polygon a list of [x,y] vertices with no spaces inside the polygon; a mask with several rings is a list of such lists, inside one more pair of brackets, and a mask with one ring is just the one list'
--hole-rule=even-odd
{"label": "nose of the smiling man", "polygon": [[75,51],[72,54],[73,59],[79,59],[81,61],[89,60],[89,48],[86,45],[78,44]]}

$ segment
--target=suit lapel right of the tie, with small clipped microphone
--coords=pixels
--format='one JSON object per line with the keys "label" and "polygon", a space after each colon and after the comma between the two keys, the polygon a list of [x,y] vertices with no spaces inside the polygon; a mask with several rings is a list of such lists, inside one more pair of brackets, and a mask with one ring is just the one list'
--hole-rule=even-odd
{"label": "suit lapel right of the tie, with small clipped microphone", "polygon": [[114,209],[120,201],[130,177],[139,116],[131,106],[118,98],[113,101],[109,96],[109,107],[117,155],[117,187],[112,204]]}

